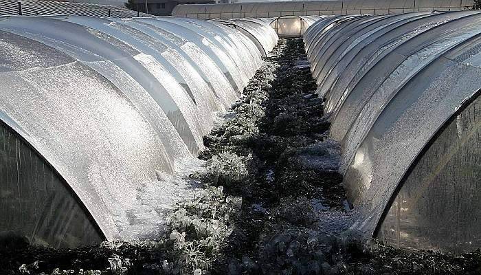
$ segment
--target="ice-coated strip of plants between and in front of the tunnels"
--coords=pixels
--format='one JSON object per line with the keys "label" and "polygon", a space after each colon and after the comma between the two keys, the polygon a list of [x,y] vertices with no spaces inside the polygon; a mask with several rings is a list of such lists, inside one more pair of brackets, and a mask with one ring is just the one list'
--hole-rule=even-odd
{"label": "ice-coated strip of plants between and in front of the tunnels", "polygon": [[204,137],[203,185],[175,206],[163,238],[74,250],[0,251],[0,274],[480,274],[481,252],[406,252],[348,230],[304,45],[281,40],[240,100]]}

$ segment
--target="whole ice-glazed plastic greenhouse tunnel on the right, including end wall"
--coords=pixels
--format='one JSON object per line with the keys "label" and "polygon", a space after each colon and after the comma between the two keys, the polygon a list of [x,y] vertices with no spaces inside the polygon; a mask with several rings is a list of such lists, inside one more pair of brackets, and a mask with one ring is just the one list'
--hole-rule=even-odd
{"label": "whole ice-glazed plastic greenhouse tunnel on the right, including end wall", "polygon": [[336,16],[306,31],[353,229],[399,248],[481,247],[480,19]]}

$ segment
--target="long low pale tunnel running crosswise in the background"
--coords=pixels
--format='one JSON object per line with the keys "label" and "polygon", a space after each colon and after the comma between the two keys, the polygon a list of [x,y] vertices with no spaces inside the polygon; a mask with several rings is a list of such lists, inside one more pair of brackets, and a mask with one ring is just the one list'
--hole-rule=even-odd
{"label": "long low pale tunnel running crosswise in the background", "polygon": [[177,5],[172,15],[196,19],[267,18],[286,15],[385,15],[469,10],[473,2],[473,0],[320,0],[264,3],[242,1],[232,5]]}

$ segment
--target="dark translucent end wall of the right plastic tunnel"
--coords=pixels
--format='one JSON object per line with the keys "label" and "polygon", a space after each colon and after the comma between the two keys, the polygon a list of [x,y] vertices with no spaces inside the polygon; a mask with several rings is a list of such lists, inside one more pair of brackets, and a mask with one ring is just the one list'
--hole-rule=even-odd
{"label": "dark translucent end wall of the right plastic tunnel", "polygon": [[383,241],[455,252],[481,247],[480,104],[456,115],[414,165],[382,223]]}

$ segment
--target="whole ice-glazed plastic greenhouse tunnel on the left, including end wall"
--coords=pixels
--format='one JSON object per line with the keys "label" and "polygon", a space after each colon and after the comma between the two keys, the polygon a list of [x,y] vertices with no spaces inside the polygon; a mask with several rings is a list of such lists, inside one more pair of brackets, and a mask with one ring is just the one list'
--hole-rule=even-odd
{"label": "whole ice-glazed plastic greenhouse tunnel on the left, including end wall", "polygon": [[254,76],[257,42],[196,19],[0,17],[0,232],[54,248],[125,236],[142,183],[197,157]]}

